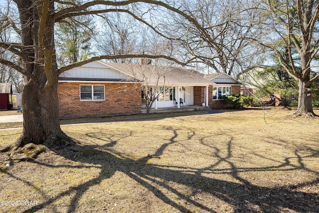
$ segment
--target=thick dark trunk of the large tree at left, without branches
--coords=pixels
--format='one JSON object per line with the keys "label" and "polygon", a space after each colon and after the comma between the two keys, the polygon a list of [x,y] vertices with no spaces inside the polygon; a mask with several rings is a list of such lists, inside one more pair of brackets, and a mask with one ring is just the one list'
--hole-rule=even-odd
{"label": "thick dark trunk of the large tree at left, without branches", "polygon": [[59,122],[54,1],[15,2],[21,22],[21,44],[25,46],[22,67],[29,76],[24,77],[22,92],[23,131],[6,151],[14,151],[30,143],[55,150],[72,145],[73,140],[63,133]]}

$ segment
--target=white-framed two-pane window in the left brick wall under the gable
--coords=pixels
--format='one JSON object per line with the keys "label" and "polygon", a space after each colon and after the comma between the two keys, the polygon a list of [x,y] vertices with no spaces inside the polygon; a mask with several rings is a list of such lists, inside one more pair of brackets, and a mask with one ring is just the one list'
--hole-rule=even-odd
{"label": "white-framed two-pane window in the left brick wall under the gable", "polygon": [[81,101],[104,101],[104,85],[80,85]]}

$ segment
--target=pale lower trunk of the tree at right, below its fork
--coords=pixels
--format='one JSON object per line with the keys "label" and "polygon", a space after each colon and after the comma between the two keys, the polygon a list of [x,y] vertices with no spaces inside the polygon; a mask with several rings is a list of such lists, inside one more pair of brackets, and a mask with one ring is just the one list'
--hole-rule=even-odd
{"label": "pale lower trunk of the tree at right, below its fork", "polygon": [[302,80],[298,81],[299,96],[298,96],[298,109],[294,113],[295,116],[314,117],[316,114],[313,111],[312,93],[308,91],[306,83]]}

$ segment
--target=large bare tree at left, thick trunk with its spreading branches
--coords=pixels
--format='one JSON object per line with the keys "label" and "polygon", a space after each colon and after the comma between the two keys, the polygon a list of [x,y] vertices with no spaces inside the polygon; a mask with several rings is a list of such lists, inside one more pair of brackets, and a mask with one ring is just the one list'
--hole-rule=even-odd
{"label": "large bare tree at left, thick trunk with its spreading branches", "polygon": [[[17,41],[0,42],[1,51],[10,51],[21,59],[9,61],[0,58],[0,63],[16,69],[25,77],[23,104],[23,131],[19,139],[10,147],[16,149],[28,143],[44,144],[51,148],[61,148],[72,144],[60,128],[58,111],[58,76],[63,71],[81,66],[100,59],[150,57],[167,58],[178,62],[167,55],[102,55],[71,63],[58,68],[55,57],[54,25],[65,18],[87,15],[119,12],[117,6],[125,6],[137,2],[94,0],[78,5],[74,2],[59,1],[65,8],[55,8],[54,0],[14,0],[19,14],[19,23],[14,23],[10,16],[2,18],[4,21],[0,30],[15,28],[20,36]],[[97,7],[100,5],[100,7]],[[104,8],[101,9],[101,5]],[[126,12],[127,7],[123,7]],[[132,13],[133,14],[133,13]]]}

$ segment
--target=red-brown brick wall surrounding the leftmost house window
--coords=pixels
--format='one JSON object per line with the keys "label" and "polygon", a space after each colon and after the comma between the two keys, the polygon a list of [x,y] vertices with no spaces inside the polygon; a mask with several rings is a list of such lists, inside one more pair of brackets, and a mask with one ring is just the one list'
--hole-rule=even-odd
{"label": "red-brown brick wall surrounding the leftmost house window", "polygon": [[[105,101],[80,101],[80,85],[105,85]],[[141,113],[141,91],[132,83],[59,82],[60,118]]]}

